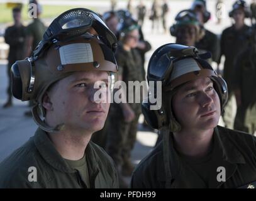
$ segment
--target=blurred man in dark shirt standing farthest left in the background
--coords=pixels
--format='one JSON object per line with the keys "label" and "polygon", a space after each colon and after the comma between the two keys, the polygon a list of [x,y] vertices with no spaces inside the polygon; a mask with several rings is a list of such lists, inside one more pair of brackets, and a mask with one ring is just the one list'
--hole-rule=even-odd
{"label": "blurred man in dark shirt standing farthest left in the background", "polygon": [[13,20],[14,25],[9,26],[4,35],[5,42],[9,45],[9,55],[8,55],[8,100],[4,104],[4,108],[11,107],[12,95],[11,95],[11,66],[16,60],[21,60],[24,57],[24,43],[25,43],[25,26],[21,23],[21,8],[13,8]]}

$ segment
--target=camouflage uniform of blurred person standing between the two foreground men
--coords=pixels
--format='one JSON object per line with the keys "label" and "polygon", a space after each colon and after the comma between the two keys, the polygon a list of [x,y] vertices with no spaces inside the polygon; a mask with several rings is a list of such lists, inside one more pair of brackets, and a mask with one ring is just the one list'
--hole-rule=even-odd
{"label": "camouflage uniform of blurred person standing between the two foreground men", "polygon": [[[142,60],[137,50],[131,49],[127,52],[122,45],[119,45],[116,51],[116,61],[118,73],[122,75],[126,86],[128,86],[128,81],[142,82]],[[135,97],[135,92],[133,92],[133,97]],[[125,165],[125,162],[130,160],[130,153],[136,141],[138,118],[141,114],[140,103],[129,103],[129,105],[135,112],[135,119],[131,122],[125,122],[120,104],[113,103],[109,109],[106,151],[118,166]]]}

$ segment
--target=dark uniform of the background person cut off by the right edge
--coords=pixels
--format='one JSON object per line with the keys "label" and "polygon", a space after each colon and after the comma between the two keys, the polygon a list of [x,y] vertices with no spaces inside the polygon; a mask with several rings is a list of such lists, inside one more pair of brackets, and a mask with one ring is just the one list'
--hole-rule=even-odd
{"label": "dark uniform of the background person cut off by the right edge", "polygon": [[241,105],[237,108],[234,128],[253,134],[256,131],[256,50],[249,47],[236,62],[235,90],[241,92]]}

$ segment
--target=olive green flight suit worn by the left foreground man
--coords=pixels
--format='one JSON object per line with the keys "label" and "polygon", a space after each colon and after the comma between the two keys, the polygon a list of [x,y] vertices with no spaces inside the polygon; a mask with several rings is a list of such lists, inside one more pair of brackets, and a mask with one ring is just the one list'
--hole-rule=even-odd
{"label": "olive green flight suit worn by the left foreground man", "polygon": [[[119,187],[113,160],[102,148],[90,141],[85,155],[91,188]],[[35,136],[0,163],[0,188],[86,188],[80,171],[69,166],[47,133],[38,128]],[[34,180],[31,173],[36,173]]]}

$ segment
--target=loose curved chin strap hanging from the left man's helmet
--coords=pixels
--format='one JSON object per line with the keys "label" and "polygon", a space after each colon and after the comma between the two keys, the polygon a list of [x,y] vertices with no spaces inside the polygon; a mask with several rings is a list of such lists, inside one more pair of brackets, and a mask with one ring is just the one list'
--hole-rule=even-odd
{"label": "loose curved chin strap hanging from the left man's helmet", "polygon": [[62,131],[65,128],[64,124],[58,124],[57,126],[55,126],[55,128],[48,126],[45,123],[45,121],[43,121],[40,118],[40,116],[38,114],[38,109],[40,109],[40,108],[39,108],[38,104],[36,104],[35,106],[32,107],[31,112],[32,112],[34,121],[39,126],[39,128],[41,128],[43,131],[46,131],[47,133],[53,133],[53,132]]}

